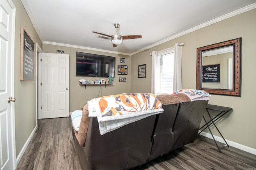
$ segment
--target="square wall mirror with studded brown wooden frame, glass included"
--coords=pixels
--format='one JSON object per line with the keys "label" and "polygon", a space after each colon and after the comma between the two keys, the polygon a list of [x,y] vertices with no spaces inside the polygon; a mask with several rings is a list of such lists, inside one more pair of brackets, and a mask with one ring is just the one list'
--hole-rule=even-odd
{"label": "square wall mirror with studded brown wooden frame, glass included", "polygon": [[197,48],[196,89],[241,96],[242,38]]}

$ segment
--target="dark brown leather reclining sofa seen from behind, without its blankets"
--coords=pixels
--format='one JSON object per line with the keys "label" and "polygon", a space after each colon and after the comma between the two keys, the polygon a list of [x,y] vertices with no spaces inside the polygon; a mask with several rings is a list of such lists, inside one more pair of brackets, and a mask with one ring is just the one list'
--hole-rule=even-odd
{"label": "dark brown leather reclining sofa seen from behind, without its blankets", "polygon": [[158,96],[164,112],[100,135],[96,117],[85,105],[78,132],[72,128],[82,170],[122,170],[145,164],[194,142],[208,100],[184,94]]}

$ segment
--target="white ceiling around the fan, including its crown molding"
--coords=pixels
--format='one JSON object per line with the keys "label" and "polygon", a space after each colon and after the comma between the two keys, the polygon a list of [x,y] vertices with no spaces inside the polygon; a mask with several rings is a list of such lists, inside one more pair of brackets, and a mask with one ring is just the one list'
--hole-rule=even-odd
{"label": "white ceiling around the fan, including its crown molding", "polygon": [[[43,43],[133,54],[256,8],[256,0],[22,0]],[[92,31],[141,34],[112,47]],[[178,42],[181,43],[181,42]],[[186,42],[184,42],[186,43]],[[61,49],[60,49],[61,50]]]}

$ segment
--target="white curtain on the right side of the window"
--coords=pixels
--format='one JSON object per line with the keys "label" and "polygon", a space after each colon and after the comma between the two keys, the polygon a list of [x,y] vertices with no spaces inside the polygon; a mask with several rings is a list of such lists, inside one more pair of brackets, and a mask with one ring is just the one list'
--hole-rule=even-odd
{"label": "white curtain on the right side of the window", "polygon": [[[173,75],[173,91],[182,89],[181,82],[181,48],[178,43],[174,44],[174,75]],[[153,56],[153,55],[152,55]]]}

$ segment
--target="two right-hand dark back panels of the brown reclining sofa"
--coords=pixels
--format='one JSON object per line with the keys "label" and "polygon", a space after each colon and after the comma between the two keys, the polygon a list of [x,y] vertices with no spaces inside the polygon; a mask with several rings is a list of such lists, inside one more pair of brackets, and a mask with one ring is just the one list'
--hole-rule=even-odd
{"label": "two right-hand dark back panels of the brown reclining sofa", "polygon": [[163,105],[164,112],[157,115],[152,151],[148,160],[194,142],[207,104],[208,100]]}

